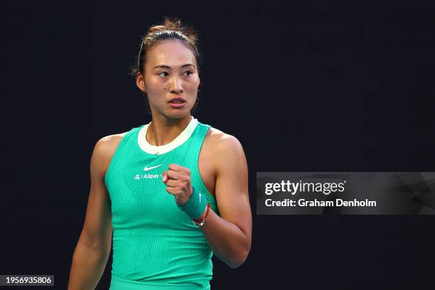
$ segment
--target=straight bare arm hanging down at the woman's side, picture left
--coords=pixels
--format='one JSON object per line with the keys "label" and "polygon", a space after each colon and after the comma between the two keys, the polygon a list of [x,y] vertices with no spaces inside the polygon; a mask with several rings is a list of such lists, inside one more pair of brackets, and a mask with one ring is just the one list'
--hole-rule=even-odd
{"label": "straight bare arm hanging down at the woman's side, picture left", "polygon": [[95,289],[104,272],[112,247],[112,213],[104,185],[110,137],[95,145],[90,164],[91,188],[85,225],[75,247],[68,289]]}

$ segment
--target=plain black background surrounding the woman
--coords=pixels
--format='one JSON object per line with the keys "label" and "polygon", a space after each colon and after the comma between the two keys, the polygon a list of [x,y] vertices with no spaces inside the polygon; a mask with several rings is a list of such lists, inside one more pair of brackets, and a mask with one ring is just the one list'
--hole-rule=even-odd
{"label": "plain black background surrounding the woman", "polygon": [[249,163],[252,249],[213,258],[212,289],[431,287],[433,216],[255,215],[257,171],[435,171],[435,9],[353,2],[1,4],[0,274],[66,289],[93,146],[150,121],[129,66],[175,16],[200,35],[195,117]]}

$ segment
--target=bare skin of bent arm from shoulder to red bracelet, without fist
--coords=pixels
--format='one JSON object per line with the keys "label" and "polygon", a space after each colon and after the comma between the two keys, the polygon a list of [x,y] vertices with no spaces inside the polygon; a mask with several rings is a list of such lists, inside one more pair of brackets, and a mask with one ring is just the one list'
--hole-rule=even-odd
{"label": "bare skin of bent arm from shoulder to red bracelet, without fist", "polygon": [[220,216],[210,209],[201,230],[214,254],[231,268],[237,268],[251,249],[247,161],[242,145],[230,135],[216,144],[215,156],[215,196]]}

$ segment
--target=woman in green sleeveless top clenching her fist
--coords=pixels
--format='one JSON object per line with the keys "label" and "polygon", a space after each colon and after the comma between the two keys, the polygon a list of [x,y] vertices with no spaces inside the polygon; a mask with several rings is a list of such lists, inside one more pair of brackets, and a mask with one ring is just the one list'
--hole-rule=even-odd
{"label": "woman in green sleeveless top clenching her fist", "polygon": [[213,253],[236,268],[251,247],[240,142],[191,116],[197,38],[165,19],[144,36],[136,85],[151,122],[95,145],[69,289],[94,289],[112,247],[110,289],[210,289]]}

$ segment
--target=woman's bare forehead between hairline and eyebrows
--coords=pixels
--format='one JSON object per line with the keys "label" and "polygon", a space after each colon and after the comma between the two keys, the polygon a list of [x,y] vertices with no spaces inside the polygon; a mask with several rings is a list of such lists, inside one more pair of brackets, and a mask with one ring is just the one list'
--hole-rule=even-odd
{"label": "woman's bare forehead between hairline and eyebrows", "polygon": [[179,66],[186,63],[196,64],[195,55],[183,41],[159,41],[146,54],[146,65]]}

